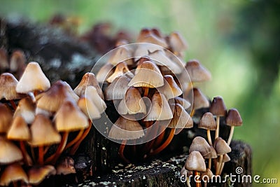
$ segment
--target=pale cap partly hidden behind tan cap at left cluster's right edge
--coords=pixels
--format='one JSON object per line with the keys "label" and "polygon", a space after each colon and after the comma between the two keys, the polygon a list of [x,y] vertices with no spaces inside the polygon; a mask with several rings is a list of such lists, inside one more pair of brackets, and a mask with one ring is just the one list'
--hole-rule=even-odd
{"label": "pale cap partly hidden behind tan cap at left cluster's right edge", "polygon": [[87,86],[87,89],[85,90],[85,97],[90,98],[92,100],[94,105],[97,106],[99,113],[103,113],[107,108],[106,103],[98,95],[97,90],[93,86]]}

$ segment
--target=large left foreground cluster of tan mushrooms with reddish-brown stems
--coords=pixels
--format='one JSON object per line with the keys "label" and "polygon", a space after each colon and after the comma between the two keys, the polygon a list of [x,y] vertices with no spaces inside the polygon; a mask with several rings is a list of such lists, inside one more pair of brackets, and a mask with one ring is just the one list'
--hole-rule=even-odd
{"label": "large left foreground cluster of tan mushrooms with reddish-brown stems", "polygon": [[74,90],[61,80],[51,85],[37,62],[27,64],[19,81],[1,74],[0,186],[75,173],[71,156],[106,109],[103,97],[92,73]]}

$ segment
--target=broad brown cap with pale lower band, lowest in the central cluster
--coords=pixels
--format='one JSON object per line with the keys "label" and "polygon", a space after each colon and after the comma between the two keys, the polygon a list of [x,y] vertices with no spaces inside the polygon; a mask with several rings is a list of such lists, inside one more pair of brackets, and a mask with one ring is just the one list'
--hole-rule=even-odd
{"label": "broad brown cap with pale lower band, lowest in the central cluster", "polygon": [[[132,116],[130,116],[132,118]],[[137,120],[129,120],[120,116],[111,127],[108,137],[111,139],[129,140],[144,136],[144,130]]]}

